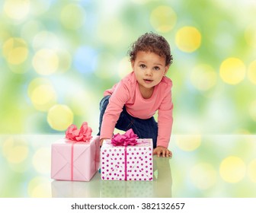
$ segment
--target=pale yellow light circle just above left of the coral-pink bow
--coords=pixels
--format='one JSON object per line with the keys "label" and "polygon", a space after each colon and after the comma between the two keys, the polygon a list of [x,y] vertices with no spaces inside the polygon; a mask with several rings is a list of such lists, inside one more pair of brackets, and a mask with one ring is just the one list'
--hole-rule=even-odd
{"label": "pale yellow light circle just above left of the coral-pink bow", "polygon": [[64,131],[72,124],[73,118],[74,114],[69,106],[56,104],[48,111],[47,122],[52,129]]}

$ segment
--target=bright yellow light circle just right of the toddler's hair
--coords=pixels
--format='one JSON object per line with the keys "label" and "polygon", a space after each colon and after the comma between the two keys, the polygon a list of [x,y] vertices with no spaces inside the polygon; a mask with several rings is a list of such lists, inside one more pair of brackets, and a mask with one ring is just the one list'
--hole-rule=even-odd
{"label": "bright yellow light circle just right of the toddler's hair", "polygon": [[175,35],[175,43],[183,52],[194,52],[201,45],[201,33],[196,27],[181,27]]}

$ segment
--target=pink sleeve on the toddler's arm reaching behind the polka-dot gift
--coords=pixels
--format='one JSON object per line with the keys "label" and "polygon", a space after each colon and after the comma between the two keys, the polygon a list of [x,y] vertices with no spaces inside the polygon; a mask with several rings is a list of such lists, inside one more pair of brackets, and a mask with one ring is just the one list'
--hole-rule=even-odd
{"label": "pink sleeve on the toddler's arm reaching behind the polka-dot gift", "polygon": [[129,85],[125,81],[120,81],[116,89],[109,99],[107,109],[105,110],[102,124],[100,138],[112,138],[114,128],[120,113],[123,111],[123,106],[129,99]]}

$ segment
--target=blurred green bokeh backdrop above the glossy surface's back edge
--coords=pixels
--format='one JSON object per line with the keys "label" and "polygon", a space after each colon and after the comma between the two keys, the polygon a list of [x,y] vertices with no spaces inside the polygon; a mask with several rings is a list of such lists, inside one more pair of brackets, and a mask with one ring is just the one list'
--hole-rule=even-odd
{"label": "blurred green bokeh backdrop above the glossy surface's back edge", "polygon": [[[168,72],[174,82],[174,134],[256,130],[254,1],[6,0],[0,3],[0,11],[2,134],[63,132],[47,121],[55,104],[69,107],[72,123],[80,126],[87,121],[97,133],[98,104],[104,90],[130,72],[126,58],[130,43],[149,31],[162,34],[174,56]],[[198,48],[188,52],[188,47],[179,46],[183,41],[178,42],[177,37],[182,27],[197,29]],[[183,40],[190,40],[193,46],[197,38],[188,32]],[[24,49],[19,52],[19,47]],[[242,70],[226,74],[228,80],[238,76],[235,84],[219,75],[222,62],[229,58],[244,65]],[[50,65],[38,71],[45,63]],[[203,76],[203,68],[199,74],[194,72],[200,65],[214,73]],[[43,110],[29,95],[29,87],[37,78],[51,88],[49,93],[34,94],[37,101],[46,95],[45,102],[40,103]],[[200,89],[200,84],[208,81],[210,86]],[[47,95],[54,101],[47,100]],[[62,129],[68,123],[70,120]]]}

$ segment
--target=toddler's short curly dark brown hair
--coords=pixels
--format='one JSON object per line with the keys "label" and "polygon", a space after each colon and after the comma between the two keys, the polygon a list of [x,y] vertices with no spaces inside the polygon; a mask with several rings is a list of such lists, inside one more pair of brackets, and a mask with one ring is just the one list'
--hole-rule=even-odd
{"label": "toddler's short curly dark brown hair", "polygon": [[173,62],[169,43],[156,33],[145,33],[130,46],[128,55],[131,62],[136,59],[139,51],[154,52],[158,56],[165,57],[165,65],[171,65]]}

